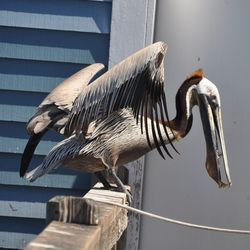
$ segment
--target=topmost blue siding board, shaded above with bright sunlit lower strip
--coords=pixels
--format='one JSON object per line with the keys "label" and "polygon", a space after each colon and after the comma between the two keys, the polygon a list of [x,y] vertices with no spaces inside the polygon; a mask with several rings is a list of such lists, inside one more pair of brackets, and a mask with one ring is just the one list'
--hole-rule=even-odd
{"label": "topmost blue siding board, shaded above with bright sunlit lower strip", "polygon": [[110,32],[111,3],[1,0],[0,25],[77,32]]}

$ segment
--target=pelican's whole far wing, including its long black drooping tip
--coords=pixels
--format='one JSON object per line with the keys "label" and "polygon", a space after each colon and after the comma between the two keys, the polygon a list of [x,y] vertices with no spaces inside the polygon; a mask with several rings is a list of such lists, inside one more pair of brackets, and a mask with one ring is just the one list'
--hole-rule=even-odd
{"label": "pelican's whole far wing, including its long black drooping tip", "polygon": [[76,72],[59,84],[38,106],[27,124],[30,138],[21,159],[21,177],[26,173],[37,145],[48,130],[68,136],[64,133],[64,127],[73,102],[93,77],[103,69],[103,64],[96,63]]}

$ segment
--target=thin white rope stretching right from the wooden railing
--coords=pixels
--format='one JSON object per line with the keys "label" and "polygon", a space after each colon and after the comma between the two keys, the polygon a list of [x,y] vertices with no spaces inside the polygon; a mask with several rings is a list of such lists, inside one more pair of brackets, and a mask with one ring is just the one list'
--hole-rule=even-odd
{"label": "thin white rope stretching right from the wooden railing", "polygon": [[146,216],[149,216],[151,218],[155,218],[155,219],[158,219],[158,220],[161,220],[161,221],[165,221],[165,222],[169,222],[169,223],[173,223],[173,224],[177,224],[177,225],[181,225],[181,226],[185,226],[185,227],[191,227],[191,228],[197,228],[197,229],[201,229],[201,230],[208,230],[208,231],[215,231],[215,232],[224,232],[224,233],[250,234],[250,230],[240,230],[240,229],[229,229],[229,228],[203,226],[203,225],[198,225],[198,224],[193,224],[193,223],[188,223],[188,222],[184,222],[184,221],[170,219],[170,218],[163,217],[163,216],[160,216],[160,215],[157,215],[157,214],[145,212],[143,210],[130,207],[128,205],[123,205],[123,204],[118,204],[118,203],[115,203],[115,202],[103,201],[103,200],[93,199],[93,198],[90,198],[90,199],[93,200],[93,201],[97,201],[97,202],[106,203],[106,204],[109,204],[109,205],[125,208],[125,209],[127,209],[129,211],[132,211],[132,212],[135,212],[135,213],[138,213],[138,214],[146,215]]}

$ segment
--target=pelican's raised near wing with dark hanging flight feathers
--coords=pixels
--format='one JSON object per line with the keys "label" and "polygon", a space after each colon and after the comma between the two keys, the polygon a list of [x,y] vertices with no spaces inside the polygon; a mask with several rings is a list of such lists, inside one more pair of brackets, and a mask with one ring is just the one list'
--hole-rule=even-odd
{"label": "pelican's raised near wing with dark hanging flight feathers", "polygon": [[[145,128],[149,146],[152,142],[147,118],[151,120],[153,140],[159,153],[164,158],[160,149],[163,146],[171,157],[159,126],[160,120],[169,120],[164,93],[163,59],[166,50],[165,43],[154,43],[126,58],[88,85],[73,105],[65,127],[66,133],[85,133],[91,121],[130,107],[137,121],[141,119],[141,130],[143,132]],[[174,148],[166,130],[165,133]]]}

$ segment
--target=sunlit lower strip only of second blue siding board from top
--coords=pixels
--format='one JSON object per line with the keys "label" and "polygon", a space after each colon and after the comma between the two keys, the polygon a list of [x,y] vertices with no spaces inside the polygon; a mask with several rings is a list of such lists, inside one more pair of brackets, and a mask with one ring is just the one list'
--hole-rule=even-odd
{"label": "sunlit lower strip only of second blue siding board from top", "polygon": [[93,55],[88,49],[56,48],[0,42],[0,57],[25,60],[92,64],[106,63],[103,55]]}

